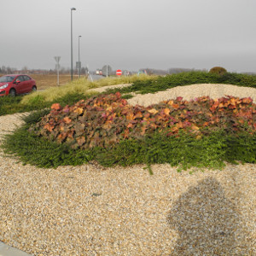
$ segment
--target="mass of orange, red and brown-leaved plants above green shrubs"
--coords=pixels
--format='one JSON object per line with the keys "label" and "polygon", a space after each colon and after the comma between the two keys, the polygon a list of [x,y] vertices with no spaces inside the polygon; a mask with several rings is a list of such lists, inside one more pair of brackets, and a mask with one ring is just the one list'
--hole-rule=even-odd
{"label": "mass of orange, red and brown-leaved plants above green shrubs", "polygon": [[143,139],[155,131],[167,137],[178,137],[183,131],[198,139],[218,129],[254,133],[255,113],[256,105],[250,97],[213,100],[203,96],[192,101],[177,97],[145,108],[129,105],[117,92],[93,96],[64,108],[55,103],[30,131],[51,141],[70,143],[72,148],[107,148],[120,140]]}

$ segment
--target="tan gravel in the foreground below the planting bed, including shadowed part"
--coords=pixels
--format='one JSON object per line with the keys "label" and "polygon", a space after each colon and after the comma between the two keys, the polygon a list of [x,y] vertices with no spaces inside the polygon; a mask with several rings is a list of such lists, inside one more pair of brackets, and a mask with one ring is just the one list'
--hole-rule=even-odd
{"label": "tan gravel in the foreground below the planting bed, including shadowed part", "polygon": [[[0,135],[21,123],[0,117]],[[1,156],[0,241],[35,255],[256,255],[255,165],[143,167],[41,169]]]}

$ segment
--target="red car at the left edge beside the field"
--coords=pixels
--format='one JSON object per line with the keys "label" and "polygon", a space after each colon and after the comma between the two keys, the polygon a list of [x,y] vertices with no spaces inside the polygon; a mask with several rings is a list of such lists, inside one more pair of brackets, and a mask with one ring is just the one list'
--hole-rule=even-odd
{"label": "red car at the left edge beside the field", "polygon": [[0,78],[0,96],[16,96],[37,90],[36,81],[25,74],[9,74]]}

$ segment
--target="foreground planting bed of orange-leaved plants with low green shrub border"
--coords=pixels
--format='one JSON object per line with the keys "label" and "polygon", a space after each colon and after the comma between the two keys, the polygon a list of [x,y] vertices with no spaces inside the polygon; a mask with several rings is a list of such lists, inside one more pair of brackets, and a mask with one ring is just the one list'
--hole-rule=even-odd
{"label": "foreground planting bed of orange-leaved plants with low green shrub border", "polygon": [[154,163],[222,168],[225,162],[255,163],[255,113],[250,98],[177,98],[143,108],[129,106],[118,93],[94,96],[32,113],[5,137],[3,148],[40,167],[96,160],[102,166],[145,164],[149,171]]}

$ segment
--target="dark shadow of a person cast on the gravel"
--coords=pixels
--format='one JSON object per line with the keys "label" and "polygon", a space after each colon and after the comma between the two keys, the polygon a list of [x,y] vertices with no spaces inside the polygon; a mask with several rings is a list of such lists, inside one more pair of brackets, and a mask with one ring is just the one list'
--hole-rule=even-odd
{"label": "dark shadow of a person cast on the gravel", "polygon": [[[171,255],[245,255],[240,234],[241,215],[225,198],[220,183],[208,177],[189,187],[173,204],[168,216],[179,238]],[[238,244],[237,244],[238,243]]]}

